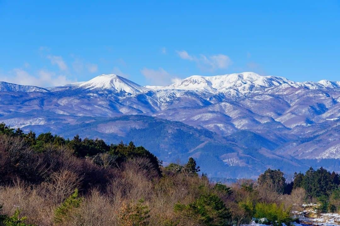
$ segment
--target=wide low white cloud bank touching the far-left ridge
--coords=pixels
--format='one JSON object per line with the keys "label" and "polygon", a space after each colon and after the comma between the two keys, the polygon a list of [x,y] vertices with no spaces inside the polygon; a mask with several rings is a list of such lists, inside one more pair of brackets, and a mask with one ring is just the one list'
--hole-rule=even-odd
{"label": "wide low white cloud bank touching the far-left ridge", "polygon": [[58,86],[74,82],[67,79],[64,75],[56,75],[47,70],[39,70],[35,76],[32,76],[20,68],[13,69],[1,80],[19,85],[34,85],[39,87]]}

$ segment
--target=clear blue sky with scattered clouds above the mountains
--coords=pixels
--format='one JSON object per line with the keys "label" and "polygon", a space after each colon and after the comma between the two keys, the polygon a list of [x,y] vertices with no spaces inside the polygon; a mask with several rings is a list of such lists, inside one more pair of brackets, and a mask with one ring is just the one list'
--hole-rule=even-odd
{"label": "clear blue sky with scattered clouds above the mountains", "polygon": [[255,71],[340,81],[340,1],[2,1],[0,80],[141,85]]}

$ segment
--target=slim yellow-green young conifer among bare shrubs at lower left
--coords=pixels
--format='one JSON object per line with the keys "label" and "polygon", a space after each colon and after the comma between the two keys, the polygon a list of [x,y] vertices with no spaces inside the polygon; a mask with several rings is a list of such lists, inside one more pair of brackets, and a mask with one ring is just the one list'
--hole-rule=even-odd
{"label": "slim yellow-green young conifer among bare shrubs at lower left", "polygon": [[55,209],[54,223],[59,224],[69,221],[71,214],[80,206],[82,201],[83,199],[78,197],[78,189],[75,189],[73,194]]}

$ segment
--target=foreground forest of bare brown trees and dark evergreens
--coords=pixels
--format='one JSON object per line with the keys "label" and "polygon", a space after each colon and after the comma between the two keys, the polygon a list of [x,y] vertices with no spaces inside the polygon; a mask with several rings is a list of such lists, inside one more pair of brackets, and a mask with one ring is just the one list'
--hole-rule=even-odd
{"label": "foreground forest of bare brown trees and dark evergreens", "polygon": [[36,136],[0,124],[0,225],[289,224],[303,203],[340,211],[339,183],[323,168],[291,181],[268,169],[257,181],[211,183],[193,158],[164,167],[133,142]]}

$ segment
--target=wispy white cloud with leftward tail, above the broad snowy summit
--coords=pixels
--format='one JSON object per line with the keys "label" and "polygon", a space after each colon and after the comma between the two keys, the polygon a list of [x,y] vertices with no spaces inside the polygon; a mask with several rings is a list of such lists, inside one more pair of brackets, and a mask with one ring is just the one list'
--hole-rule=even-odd
{"label": "wispy white cloud with leftward tail, above the broad snowy summit", "polygon": [[227,55],[223,54],[217,54],[208,57],[201,54],[199,57],[197,57],[189,55],[185,50],[177,51],[177,54],[183,60],[194,61],[201,69],[210,71],[228,68],[233,63]]}

